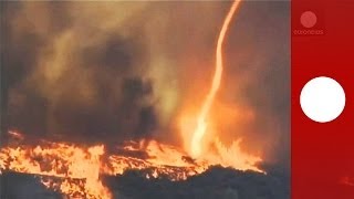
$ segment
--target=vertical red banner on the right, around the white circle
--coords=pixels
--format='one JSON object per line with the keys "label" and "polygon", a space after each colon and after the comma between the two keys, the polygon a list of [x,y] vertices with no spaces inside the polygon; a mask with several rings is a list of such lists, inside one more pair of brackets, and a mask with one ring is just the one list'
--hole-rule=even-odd
{"label": "vertical red banner on the right, around the white circle", "polygon": [[[354,198],[354,1],[291,2],[292,199]],[[327,76],[345,92],[332,122],[303,113],[302,87]]]}

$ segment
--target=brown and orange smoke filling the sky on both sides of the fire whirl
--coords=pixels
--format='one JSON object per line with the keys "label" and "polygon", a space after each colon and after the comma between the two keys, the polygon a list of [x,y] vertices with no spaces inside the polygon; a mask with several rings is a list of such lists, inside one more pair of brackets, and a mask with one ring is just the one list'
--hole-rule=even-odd
{"label": "brown and orange smoke filling the sky on both sides of the fire whirl", "polygon": [[[80,142],[176,142],[179,115],[198,109],[209,88],[230,2],[1,4],[8,128]],[[212,111],[222,139],[242,137],[247,150],[282,165],[289,160],[289,2],[241,4]]]}

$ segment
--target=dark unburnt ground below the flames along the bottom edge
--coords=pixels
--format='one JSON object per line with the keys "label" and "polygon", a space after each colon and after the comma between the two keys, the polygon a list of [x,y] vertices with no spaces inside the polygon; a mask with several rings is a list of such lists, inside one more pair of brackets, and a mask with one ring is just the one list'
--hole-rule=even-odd
{"label": "dark unburnt ground below the flames along the bottom edge", "polygon": [[[1,199],[60,199],[31,175],[7,172],[0,176]],[[215,167],[185,181],[146,179],[144,171],[106,177],[105,184],[117,199],[289,199],[290,178]]]}

